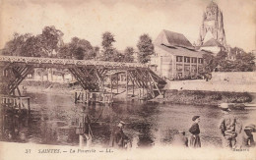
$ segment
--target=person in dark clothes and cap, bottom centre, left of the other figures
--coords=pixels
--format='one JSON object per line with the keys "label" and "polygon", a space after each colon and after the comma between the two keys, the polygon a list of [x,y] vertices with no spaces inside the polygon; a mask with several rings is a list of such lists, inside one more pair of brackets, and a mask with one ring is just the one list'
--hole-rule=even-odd
{"label": "person in dark clothes and cap, bottom centre, left of the other figures", "polygon": [[110,136],[110,147],[115,148],[125,148],[129,142],[128,136],[123,133],[123,127],[125,123],[120,121],[119,124],[113,129],[111,136]]}

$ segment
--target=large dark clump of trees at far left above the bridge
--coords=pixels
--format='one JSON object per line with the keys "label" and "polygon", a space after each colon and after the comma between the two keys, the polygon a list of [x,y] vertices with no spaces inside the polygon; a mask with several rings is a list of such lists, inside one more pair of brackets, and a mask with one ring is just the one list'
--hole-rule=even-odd
{"label": "large dark clump of trees at far left above the bridge", "polygon": [[15,33],[14,38],[6,43],[3,54],[26,57],[49,57],[62,43],[63,33],[55,27],[44,27],[42,33]]}

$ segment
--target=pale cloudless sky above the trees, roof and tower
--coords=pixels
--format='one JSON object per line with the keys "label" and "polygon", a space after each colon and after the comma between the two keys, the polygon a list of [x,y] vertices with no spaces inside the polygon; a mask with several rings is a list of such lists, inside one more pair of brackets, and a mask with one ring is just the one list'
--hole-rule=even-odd
{"label": "pale cloudless sky above the trees, roof and tower", "polygon": [[[55,26],[64,42],[77,36],[101,46],[104,31],[115,36],[114,46],[136,47],[139,36],[153,40],[162,29],[197,41],[202,16],[212,0],[0,0],[0,48],[14,32],[39,34]],[[245,51],[256,48],[256,1],[214,0],[224,15],[226,42]]]}

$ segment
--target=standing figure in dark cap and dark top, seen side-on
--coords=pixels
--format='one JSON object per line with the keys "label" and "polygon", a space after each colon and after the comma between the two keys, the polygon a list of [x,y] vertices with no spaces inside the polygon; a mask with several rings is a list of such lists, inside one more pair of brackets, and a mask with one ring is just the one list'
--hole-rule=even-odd
{"label": "standing figure in dark cap and dark top, seen side-on", "polygon": [[194,116],[192,118],[192,121],[194,121],[194,124],[189,129],[189,133],[192,133],[190,137],[190,146],[194,148],[201,147],[201,141],[200,141],[200,129],[198,123],[200,122],[200,116]]}

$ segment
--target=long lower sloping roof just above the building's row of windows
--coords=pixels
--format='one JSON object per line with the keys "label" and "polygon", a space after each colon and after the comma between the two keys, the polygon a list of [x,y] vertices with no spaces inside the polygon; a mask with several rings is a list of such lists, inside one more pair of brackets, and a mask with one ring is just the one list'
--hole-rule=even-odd
{"label": "long lower sloping roof just above the building's row of windows", "polygon": [[184,47],[169,47],[164,44],[161,44],[161,45],[156,44],[155,46],[159,47],[160,49],[162,49],[174,56],[187,56],[187,57],[200,56],[200,57],[202,57],[203,54],[205,53],[202,51],[195,51],[195,50],[187,49]]}

